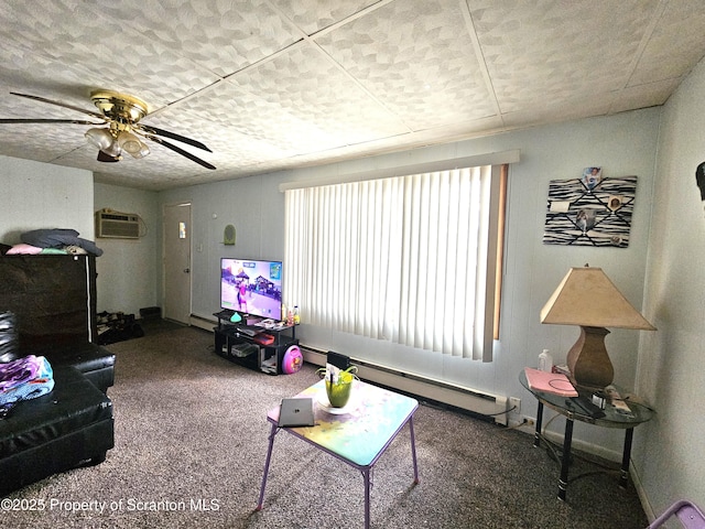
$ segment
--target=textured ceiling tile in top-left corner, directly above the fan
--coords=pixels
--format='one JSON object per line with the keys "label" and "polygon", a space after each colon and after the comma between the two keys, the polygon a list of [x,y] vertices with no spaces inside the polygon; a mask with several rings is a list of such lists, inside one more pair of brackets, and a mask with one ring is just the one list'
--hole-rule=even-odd
{"label": "textured ceiling tile in top-left corner, directly above the fan", "polygon": [[[91,3],[48,6],[51,18],[34,2],[15,2],[13,11],[0,11],[0,35],[22,52],[24,71],[41,72],[54,82],[75,84],[80,79],[84,87],[127,91],[152,107],[180,99],[217,79],[163,45],[101,17]],[[8,53],[0,52],[2,64],[12,58]],[[42,69],[43,65],[48,68]]]}

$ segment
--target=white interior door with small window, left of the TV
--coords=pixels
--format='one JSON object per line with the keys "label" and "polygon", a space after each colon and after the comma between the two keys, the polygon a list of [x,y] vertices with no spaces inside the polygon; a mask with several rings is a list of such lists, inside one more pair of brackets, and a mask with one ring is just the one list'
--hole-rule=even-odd
{"label": "white interior door with small window, left of the TV", "polygon": [[191,204],[164,206],[164,317],[191,320]]}

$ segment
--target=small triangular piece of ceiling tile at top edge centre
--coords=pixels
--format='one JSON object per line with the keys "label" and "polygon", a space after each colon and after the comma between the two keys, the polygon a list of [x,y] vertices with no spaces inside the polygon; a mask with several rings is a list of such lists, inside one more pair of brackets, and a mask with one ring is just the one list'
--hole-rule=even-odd
{"label": "small triangular piece of ceiling tile at top edge centre", "polygon": [[307,35],[354,15],[379,0],[271,0]]}

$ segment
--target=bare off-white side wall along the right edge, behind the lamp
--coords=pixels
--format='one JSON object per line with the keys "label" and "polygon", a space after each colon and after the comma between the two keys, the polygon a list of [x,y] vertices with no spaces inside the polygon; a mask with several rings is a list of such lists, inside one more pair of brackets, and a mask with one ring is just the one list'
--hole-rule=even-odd
{"label": "bare off-white side wall along the right edge, behind the lamp", "polygon": [[638,388],[658,414],[634,439],[657,514],[680,498],[705,508],[705,214],[695,168],[705,162],[705,62],[664,107],[659,139]]}

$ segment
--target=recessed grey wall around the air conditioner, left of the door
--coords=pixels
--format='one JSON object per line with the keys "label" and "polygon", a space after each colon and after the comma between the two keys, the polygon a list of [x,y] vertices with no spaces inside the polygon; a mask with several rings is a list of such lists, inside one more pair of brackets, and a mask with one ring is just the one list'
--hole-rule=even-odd
{"label": "recessed grey wall around the air conditioner, left of the door", "polygon": [[[139,239],[98,238],[104,255],[96,261],[98,312],[135,314],[158,306],[161,217],[156,193],[108,184],[95,184],[94,209],[134,213],[141,218]],[[93,212],[91,212],[93,214]]]}

